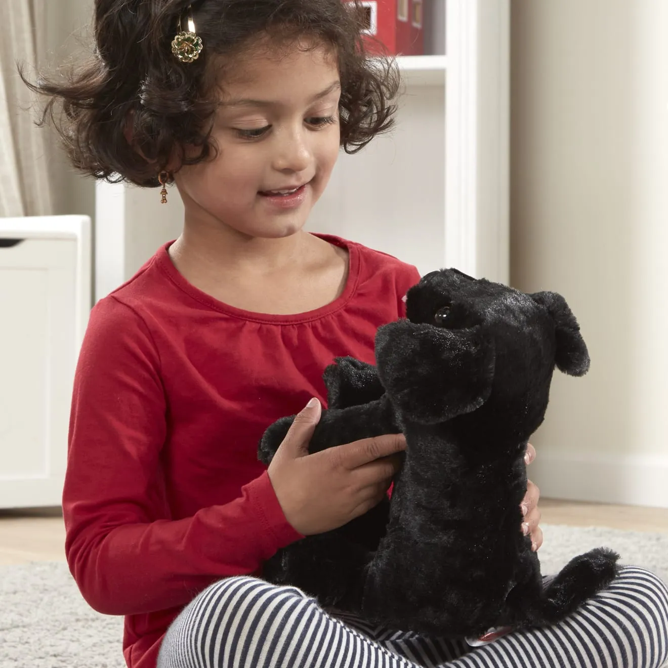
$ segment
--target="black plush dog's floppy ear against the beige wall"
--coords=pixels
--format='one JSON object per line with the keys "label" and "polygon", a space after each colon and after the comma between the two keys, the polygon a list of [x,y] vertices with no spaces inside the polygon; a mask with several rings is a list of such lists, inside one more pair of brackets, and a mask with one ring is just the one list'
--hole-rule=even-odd
{"label": "black plush dog's floppy ear against the beige wall", "polygon": [[566,300],[552,292],[534,293],[530,297],[546,307],[556,325],[556,367],[568,375],[585,375],[589,371],[589,351]]}

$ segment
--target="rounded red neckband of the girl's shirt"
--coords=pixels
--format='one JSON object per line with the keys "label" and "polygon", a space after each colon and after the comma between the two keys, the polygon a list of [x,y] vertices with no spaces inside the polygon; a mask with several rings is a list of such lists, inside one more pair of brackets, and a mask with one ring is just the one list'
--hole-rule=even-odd
{"label": "rounded red neckband of the girl's shirt", "polygon": [[174,267],[172,259],[169,257],[168,249],[174,243],[170,241],[164,246],[161,246],[156,254],[156,263],[158,267],[167,275],[168,279],[176,285],[178,289],[186,293],[192,299],[195,299],[200,304],[213,309],[214,311],[219,311],[226,315],[230,315],[234,318],[240,320],[248,320],[256,323],[267,323],[270,325],[296,325],[298,323],[307,323],[314,320],[318,320],[327,315],[335,313],[342,309],[351,297],[355,294],[357,289],[357,283],[359,282],[359,248],[357,244],[349,242],[345,239],[340,238],[339,236],[334,236],[333,234],[314,234],[334,246],[339,246],[339,248],[345,248],[348,252],[348,277],[343,288],[343,292],[339,297],[334,301],[331,301],[329,304],[321,306],[319,309],[314,309],[313,311],[305,311],[305,313],[291,313],[289,315],[277,315],[274,313],[255,313],[254,311],[246,311],[244,309],[238,309],[237,307],[226,304],[215,297],[211,297],[204,291],[196,288],[192,283],[189,283]]}

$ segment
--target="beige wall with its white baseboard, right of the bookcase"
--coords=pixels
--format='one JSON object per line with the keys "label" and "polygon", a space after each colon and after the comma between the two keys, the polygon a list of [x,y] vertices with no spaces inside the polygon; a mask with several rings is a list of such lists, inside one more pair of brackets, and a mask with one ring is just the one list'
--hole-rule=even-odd
{"label": "beige wall with its white baseboard, right of the bookcase", "polygon": [[667,0],[512,0],[512,284],[562,293],[546,496],[668,507]]}

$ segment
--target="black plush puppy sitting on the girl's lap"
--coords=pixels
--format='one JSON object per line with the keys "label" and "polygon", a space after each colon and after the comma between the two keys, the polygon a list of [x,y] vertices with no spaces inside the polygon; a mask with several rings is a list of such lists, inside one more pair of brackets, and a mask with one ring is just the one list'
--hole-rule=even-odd
{"label": "black plush puppy sitting on the girl's lap", "polygon": [[[576,319],[556,293],[456,270],[427,275],[406,301],[407,319],[377,332],[375,367],[340,358],[325,371],[329,409],[310,446],[403,432],[391,499],[280,550],[264,577],[405,631],[478,637],[553,624],[617,572],[618,555],[599,548],[544,585],[520,532],[524,451],[554,367],[589,368]],[[292,420],[265,433],[265,464]]]}

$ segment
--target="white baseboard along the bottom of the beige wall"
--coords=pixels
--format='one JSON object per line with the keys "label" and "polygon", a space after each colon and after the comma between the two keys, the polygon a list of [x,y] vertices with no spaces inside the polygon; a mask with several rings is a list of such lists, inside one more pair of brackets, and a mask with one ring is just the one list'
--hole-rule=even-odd
{"label": "white baseboard along the bottom of the beige wall", "polygon": [[668,456],[539,451],[528,476],[545,498],[668,508]]}

